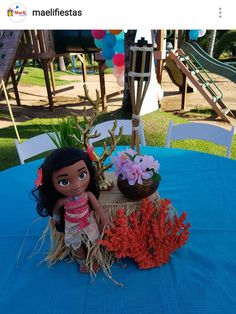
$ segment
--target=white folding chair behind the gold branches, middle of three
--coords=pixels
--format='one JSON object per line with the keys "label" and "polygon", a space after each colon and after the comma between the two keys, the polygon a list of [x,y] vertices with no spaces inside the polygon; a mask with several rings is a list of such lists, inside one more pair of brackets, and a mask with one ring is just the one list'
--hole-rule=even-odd
{"label": "white folding chair behind the gold branches, middle of three", "polygon": [[[89,143],[93,144],[95,142],[101,141],[107,137],[110,136],[109,130],[112,129],[114,125],[115,120],[109,120],[105,121],[99,124],[96,124],[92,129],[91,129],[91,134],[94,134],[96,131],[97,133],[100,134],[100,136],[96,138],[91,138],[89,139]],[[118,135],[120,131],[120,127],[123,127],[123,135],[131,135],[132,134],[132,120],[116,120],[117,121],[117,128],[115,129],[114,134]],[[140,138],[140,144],[143,146],[146,146],[146,141],[145,141],[145,136],[144,136],[144,131],[143,131],[143,125],[142,125],[142,120],[140,119],[139,122],[139,138]]]}

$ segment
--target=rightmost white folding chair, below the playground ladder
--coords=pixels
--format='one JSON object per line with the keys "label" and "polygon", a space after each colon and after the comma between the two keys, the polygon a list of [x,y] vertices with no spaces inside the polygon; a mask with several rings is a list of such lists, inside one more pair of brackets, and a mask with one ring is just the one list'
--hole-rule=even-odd
{"label": "rightmost white folding chair, below the playground ladder", "polygon": [[226,157],[230,156],[234,127],[231,130],[207,123],[185,123],[174,125],[169,123],[166,137],[166,147],[170,147],[172,140],[198,139],[210,141],[227,147]]}

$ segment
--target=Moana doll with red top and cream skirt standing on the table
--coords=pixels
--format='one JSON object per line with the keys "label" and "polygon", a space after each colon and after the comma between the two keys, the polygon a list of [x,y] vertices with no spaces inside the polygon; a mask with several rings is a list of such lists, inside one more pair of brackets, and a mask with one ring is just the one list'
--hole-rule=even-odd
{"label": "Moana doll with red top and cream skirt standing on the table", "polygon": [[[67,147],[53,151],[38,170],[33,196],[39,215],[52,217],[56,229],[64,232],[65,246],[74,251],[80,272],[87,272],[87,243],[94,244],[100,237],[93,211],[103,226],[113,227],[98,202],[91,150]],[[93,265],[93,271],[97,269]]]}

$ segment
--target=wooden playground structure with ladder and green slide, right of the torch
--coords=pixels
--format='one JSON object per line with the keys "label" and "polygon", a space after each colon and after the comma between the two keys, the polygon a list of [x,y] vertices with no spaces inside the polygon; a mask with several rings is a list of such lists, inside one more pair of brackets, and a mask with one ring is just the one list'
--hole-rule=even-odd
{"label": "wooden playground structure with ladder and green slide, right of the torch", "polygon": [[[164,34],[159,34],[159,41],[166,41]],[[165,46],[162,46],[165,50]],[[163,53],[159,51],[157,54],[157,68],[163,69]],[[158,58],[159,57],[159,58]],[[235,118],[233,112],[227,108],[223,102],[223,93],[218,88],[216,83],[211,79],[209,72],[216,73],[228,78],[236,83],[236,69],[232,66],[226,65],[214,58],[211,58],[195,41],[181,42],[181,33],[175,32],[173,49],[170,49],[165,59],[171,62],[172,72],[170,78],[176,83],[177,74],[179,82],[177,84],[182,91],[181,109],[186,107],[186,92],[188,88],[188,81],[194,86],[198,92],[211,105],[217,115],[225,122],[231,123],[232,118]],[[168,73],[170,72],[170,67]],[[177,73],[177,74],[176,74]],[[161,76],[159,76],[161,82]],[[191,86],[191,85],[190,85]]]}

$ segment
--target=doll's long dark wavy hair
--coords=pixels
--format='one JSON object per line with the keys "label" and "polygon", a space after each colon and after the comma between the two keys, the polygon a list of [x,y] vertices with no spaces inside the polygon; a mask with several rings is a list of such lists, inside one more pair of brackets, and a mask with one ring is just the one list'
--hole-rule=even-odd
{"label": "doll's long dark wavy hair", "polygon": [[88,154],[78,148],[66,147],[54,150],[41,165],[43,179],[42,185],[32,191],[37,202],[37,212],[40,216],[53,216],[53,207],[58,199],[64,197],[52,184],[52,174],[61,168],[68,167],[83,160],[90,173],[90,182],[87,191],[92,192],[96,198],[99,197],[99,185],[96,170]]}

